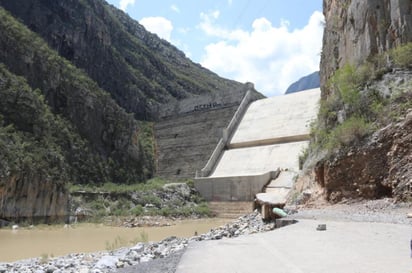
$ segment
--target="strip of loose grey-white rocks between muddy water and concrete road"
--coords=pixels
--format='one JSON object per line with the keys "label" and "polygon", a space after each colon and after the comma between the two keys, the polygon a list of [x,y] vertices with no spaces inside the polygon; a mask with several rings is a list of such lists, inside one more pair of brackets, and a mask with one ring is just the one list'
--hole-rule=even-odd
{"label": "strip of loose grey-white rocks between muddy water and concrete road", "polygon": [[245,215],[234,222],[212,229],[208,233],[191,238],[169,237],[160,242],[138,243],[131,248],[102,251],[89,254],[70,254],[58,258],[38,258],[15,263],[0,264],[0,273],[109,273],[118,268],[138,265],[157,258],[164,258],[181,251],[190,242],[219,240],[243,234],[269,231],[273,222],[262,221],[258,212]]}

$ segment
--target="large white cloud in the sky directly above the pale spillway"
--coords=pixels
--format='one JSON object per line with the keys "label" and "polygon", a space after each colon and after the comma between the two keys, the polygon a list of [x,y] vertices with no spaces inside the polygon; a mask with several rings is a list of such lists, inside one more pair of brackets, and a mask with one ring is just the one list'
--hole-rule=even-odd
{"label": "large white cloud in the sky directly above the pale spillway", "polygon": [[314,12],[307,25],[290,30],[282,20],[275,27],[266,18],[256,19],[250,32],[227,30],[214,24],[219,14],[201,14],[199,28],[218,38],[205,47],[204,67],[221,76],[255,83],[266,96],[283,94],[286,88],[319,69],[323,15]]}

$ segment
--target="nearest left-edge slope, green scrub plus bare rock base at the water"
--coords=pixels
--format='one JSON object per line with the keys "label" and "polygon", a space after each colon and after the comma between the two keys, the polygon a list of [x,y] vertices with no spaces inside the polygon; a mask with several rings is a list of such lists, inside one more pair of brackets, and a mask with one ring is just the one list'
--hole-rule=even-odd
{"label": "nearest left-edge slope, green scrub plus bare rock base at the water", "polygon": [[[1,218],[53,220],[67,214],[70,163],[91,167],[79,150],[85,148],[81,138],[70,129],[51,113],[39,90],[0,65]],[[64,150],[65,144],[72,148]]]}

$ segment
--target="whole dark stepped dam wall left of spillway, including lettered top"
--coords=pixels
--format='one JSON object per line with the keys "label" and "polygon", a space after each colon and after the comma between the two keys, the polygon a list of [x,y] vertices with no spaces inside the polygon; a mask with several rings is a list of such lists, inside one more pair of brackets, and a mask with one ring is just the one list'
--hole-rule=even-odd
{"label": "whole dark stepped dam wall left of spillway, including lettered top", "polygon": [[190,97],[163,109],[154,126],[156,176],[192,179],[206,164],[246,94],[249,103],[263,97],[246,83],[240,89]]}

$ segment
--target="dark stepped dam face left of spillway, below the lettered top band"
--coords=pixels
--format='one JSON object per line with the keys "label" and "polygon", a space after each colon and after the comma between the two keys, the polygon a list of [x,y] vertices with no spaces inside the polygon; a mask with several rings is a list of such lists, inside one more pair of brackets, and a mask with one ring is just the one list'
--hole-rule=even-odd
{"label": "dark stepped dam face left of spillway, below the lettered top band", "polygon": [[236,107],[194,112],[155,125],[157,176],[193,177],[207,162]]}

